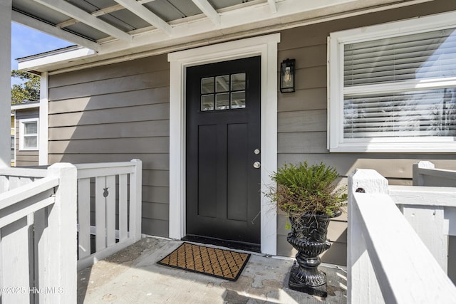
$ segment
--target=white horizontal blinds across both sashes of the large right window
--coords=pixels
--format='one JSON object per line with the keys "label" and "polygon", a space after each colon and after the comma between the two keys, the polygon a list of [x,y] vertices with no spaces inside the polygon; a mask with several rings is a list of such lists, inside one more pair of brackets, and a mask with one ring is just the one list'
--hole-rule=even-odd
{"label": "white horizontal blinds across both sashes of the large right window", "polygon": [[358,93],[344,96],[344,138],[455,137],[456,88],[376,93],[372,86],[452,77],[456,28],[346,44],[344,87]]}

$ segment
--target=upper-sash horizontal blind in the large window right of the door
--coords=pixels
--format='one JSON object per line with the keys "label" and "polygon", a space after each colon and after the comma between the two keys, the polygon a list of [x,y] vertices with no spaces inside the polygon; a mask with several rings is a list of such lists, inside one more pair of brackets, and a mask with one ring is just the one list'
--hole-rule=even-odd
{"label": "upper-sash horizontal blind in the large window right of the door", "polygon": [[455,30],[346,44],[344,85],[455,77]]}

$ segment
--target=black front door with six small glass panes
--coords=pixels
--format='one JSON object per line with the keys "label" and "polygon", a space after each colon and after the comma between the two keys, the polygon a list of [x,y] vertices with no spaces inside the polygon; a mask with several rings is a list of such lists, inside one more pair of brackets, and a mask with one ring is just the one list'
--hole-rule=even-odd
{"label": "black front door with six small glass panes", "polygon": [[187,236],[260,243],[260,75],[260,57],[187,68]]}

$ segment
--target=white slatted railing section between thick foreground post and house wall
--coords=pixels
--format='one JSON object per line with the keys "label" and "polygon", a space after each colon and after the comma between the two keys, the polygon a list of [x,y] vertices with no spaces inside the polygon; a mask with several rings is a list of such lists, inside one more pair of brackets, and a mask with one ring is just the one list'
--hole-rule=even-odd
{"label": "white slatted railing section between thick foreground post and house wall", "polygon": [[133,159],[75,166],[80,270],[141,238],[142,163]]}

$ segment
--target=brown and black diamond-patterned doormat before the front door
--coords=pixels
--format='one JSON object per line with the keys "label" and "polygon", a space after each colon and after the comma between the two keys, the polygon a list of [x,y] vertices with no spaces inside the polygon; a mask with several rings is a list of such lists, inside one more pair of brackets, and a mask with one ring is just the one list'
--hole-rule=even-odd
{"label": "brown and black diamond-patterned doormat before the front door", "polygon": [[249,253],[182,243],[175,251],[157,263],[236,281],[249,258]]}

